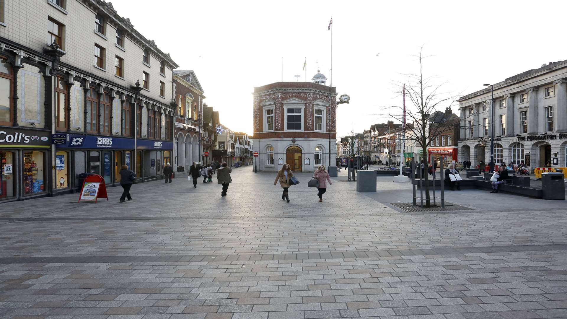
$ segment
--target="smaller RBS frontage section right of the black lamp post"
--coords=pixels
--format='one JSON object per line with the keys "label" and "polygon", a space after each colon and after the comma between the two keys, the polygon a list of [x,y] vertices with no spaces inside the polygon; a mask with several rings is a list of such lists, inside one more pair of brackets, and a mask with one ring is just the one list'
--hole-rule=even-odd
{"label": "smaller RBS frontage section right of the black lamp post", "polygon": [[136,171],[143,181],[163,179],[163,167],[170,163],[174,143],[168,141],[138,140],[136,150]]}

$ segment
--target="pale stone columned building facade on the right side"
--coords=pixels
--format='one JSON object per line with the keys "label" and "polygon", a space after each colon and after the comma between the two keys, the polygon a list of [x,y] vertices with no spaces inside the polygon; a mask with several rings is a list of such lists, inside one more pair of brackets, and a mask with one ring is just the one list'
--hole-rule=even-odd
{"label": "pale stone columned building facade on the right side", "polygon": [[469,160],[473,167],[481,160],[490,162],[494,105],[494,162],[518,164],[529,156],[530,168],[548,161],[552,167],[567,167],[565,79],[567,61],[558,61],[494,84],[493,102],[490,86],[459,99],[459,161]]}

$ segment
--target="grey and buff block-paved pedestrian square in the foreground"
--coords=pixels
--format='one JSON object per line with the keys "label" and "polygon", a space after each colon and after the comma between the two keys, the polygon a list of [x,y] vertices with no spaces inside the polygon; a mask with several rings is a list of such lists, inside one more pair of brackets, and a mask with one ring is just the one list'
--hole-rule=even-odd
{"label": "grey and buff block-paved pedestrian square in the foreground", "polygon": [[2,204],[0,318],[567,318],[567,207],[401,212],[344,172],[319,203],[310,175]]}

